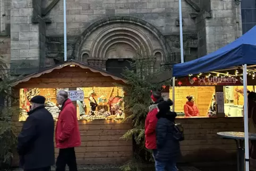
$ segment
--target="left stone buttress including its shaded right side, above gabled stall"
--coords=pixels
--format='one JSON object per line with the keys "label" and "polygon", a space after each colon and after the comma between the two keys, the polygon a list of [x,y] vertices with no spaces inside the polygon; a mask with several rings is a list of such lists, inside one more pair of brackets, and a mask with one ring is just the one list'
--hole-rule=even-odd
{"label": "left stone buttress including its shaded right side, above gabled stall", "polygon": [[[41,0],[11,0],[11,68],[18,74],[45,67],[47,19],[41,18]],[[28,69],[28,70],[24,70]]]}

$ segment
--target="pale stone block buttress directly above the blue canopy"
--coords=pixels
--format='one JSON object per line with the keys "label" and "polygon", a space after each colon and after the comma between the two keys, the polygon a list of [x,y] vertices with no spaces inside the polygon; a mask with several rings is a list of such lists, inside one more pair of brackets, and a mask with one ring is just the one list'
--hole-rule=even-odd
{"label": "pale stone block buttress directly above the blue canopy", "polygon": [[236,6],[232,0],[210,0],[208,3],[201,0],[200,6],[202,11],[196,22],[199,57],[215,52],[242,35],[240,5]]}

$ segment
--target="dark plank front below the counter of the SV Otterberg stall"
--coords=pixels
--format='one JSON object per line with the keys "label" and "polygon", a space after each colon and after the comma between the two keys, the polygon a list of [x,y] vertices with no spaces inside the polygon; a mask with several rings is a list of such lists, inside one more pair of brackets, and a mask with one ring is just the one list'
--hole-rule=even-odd
{"label": "dark plank front below the counter of the SV Otterberg stall", "polygon": [[182,163],[203,163],[236,160],[236,143],[224,140],[217,132],[243,132],[243,118],[177,118],[184,127],[181,142]]}

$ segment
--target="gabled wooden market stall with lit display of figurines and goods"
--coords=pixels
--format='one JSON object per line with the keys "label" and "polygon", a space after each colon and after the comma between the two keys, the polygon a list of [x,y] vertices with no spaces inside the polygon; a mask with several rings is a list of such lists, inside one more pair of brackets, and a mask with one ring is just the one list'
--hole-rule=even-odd
{"label": "gabled wooden market stall with lit display of figurines and goods", "polygon": [[[19,106],[22,112],[13,122],[20,132],[33,96],[45,96],[46,108],[56,118],[59,112],[57,91],[82,91],[82,99],[73,101],[77,107],[82,141],[81,147],[75,149],[78,165],[123,164],[133,155],[132,141],[120,139],[132,128],[131,123],[121,123],[125,116],[122,103],[124,84],[125,80],[78,61],[52,66],[16,81],[13,90],[19,101],[13,105]],[[91,108],[91,100],[98,104],[96,109]],[[57,157],[58,149],[55,153]],[[15,156],[13,165],[18,164],[19,158]]]}

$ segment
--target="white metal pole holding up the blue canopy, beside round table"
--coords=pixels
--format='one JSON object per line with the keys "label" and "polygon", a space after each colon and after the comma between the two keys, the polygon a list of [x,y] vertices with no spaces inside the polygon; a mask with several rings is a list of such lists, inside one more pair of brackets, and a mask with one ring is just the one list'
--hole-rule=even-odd
{"label": "white metal pole holding up the blue canopy, beside round table", "polygon": [[248,97],[247,95],[247,65],[243,65],[244,86],[244,144],[245,144],[245,171],[249,171],[249,135],[248,135]]}

